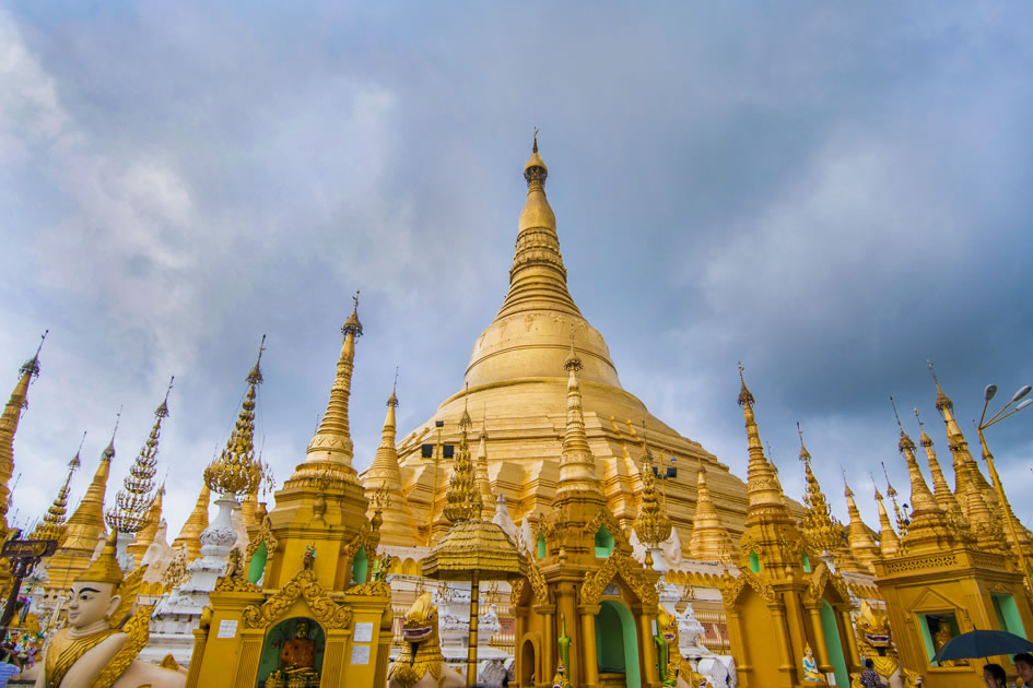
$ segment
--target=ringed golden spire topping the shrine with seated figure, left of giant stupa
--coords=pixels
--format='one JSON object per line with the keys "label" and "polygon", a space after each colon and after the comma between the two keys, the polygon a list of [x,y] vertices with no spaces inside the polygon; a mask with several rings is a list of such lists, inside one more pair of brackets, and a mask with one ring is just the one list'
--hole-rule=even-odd
{"label": "ringed golden spire topping the shrine with seated figure, left of giant stupa", "polygon": [[300,473],[309,473],[314,470],[329,471],[336,477],[359,485],[355,468],[352,467],[353,447],[348,425],[348,400],[352,393],[352,370],[355,367],[355,340],[362,336],[362,323],[359,321],[359,292],[355,292],[352,301],[354,301],[352,315],[341,328],[344,340],[337,361],[337,376],[330,388],[327,411],[319,424],[319,429],[308,443],[305,462],[294,472],[294,477],[298,477]]}

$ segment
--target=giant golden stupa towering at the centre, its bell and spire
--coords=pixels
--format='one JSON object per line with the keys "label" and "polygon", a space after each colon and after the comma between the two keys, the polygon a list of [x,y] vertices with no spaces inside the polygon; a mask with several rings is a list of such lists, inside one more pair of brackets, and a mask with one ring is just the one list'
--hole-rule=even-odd
{"label": "giant golden stupa towering at the centre, its bell and spire", "polygon": [[[480,454],[486,454],[488,486],[492,494],[505,496],[513,520],[519,523],[527,517],[537,522],[551,511],[566,423],[563,364],[572,335],[584,361],[579,380],[588,442],[607,507],[621,525],[632,525],[643,491],[639,466],[625,451],[632,447],[632,454],[643,455],[648,449],[665,466],[674,458],[676,467],[682,470],[677,481],[668,482],[666,498],[683,547],[689,547],[695,512],[697,466],[706,467],[719,521],[737,538],[746,518],[746,485],[699,442],[657,419],[623,389],[602,334],[571,297],[555,215],[545,198],[547,175],[536,137],[524,167],[527,201],[502,308],[473,345],[461,390],[415,430],[400,435],[402,493],[414,526],[408,542],[399,542],[396,534],[391,544],[430,546],[447,532],[444,487],[466,408],[481,428],[479,463]],[[375,479],[374,473],[364,475],[364,482]]]}

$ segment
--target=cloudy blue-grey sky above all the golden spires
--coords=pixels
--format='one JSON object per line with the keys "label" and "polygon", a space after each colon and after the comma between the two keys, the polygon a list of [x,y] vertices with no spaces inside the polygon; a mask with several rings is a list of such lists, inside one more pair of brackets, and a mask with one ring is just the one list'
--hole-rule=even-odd
{"label": "cloudy blue-grey sky above all the golden spires", "polygon": [[[396,366],[400,430],[430,418],[502,304],[535,126],[623,385],[740,476],[740,359],[787,491],[799,420],[869,525],[880,461],[907,493],[890,394],[950,465],[927,358],[973,444],[983,385],[1033,382],[1028,4],[343,4],[0,9],[0,394],[50,330],[20,523],[87,430],[81,497],[124,404],[110,505],[175,375],[178,532],[263,333],[282,483],[355,289],[356,467]],[[988,438],[1033,525],[1033,411]]]}

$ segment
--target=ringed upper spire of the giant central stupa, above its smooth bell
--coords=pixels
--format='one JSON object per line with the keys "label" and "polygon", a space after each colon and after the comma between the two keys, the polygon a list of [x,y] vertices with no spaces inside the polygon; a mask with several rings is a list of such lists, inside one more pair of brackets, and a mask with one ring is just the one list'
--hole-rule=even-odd
{"label": "ringed upper spire of the giant central stupa, above its smooth bell", "polygon": [[566,286],[566,268],[563,266],[556,236],[556,216],[545,198],[548,176],[549,168],[538,154],[536,129],[531,157],[524,165],[527,201],[520,211],[516,251],[509,269],[509,290],[495,320],[543,307],[580,317]]}

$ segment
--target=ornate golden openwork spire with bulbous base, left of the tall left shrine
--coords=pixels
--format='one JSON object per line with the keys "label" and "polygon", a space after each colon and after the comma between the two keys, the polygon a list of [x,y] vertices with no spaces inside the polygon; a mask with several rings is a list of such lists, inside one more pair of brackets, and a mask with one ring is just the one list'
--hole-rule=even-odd
{"label": "ornate golden openwork spire with bulbous base, left of the tall left shrine", "polygon": [[215,459],[204,468],[204,484],[216,495],[243,495],[251,488],[257,488],[261,473],[256,471],[255,463],[255,399],[257,388],[262,383],[262,373],[259,364],[265,351],[266,335],[258,347],[258,360],[246,378],[247,393],[237,415],[237,423],[226,447],[219,459]]}

